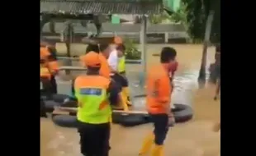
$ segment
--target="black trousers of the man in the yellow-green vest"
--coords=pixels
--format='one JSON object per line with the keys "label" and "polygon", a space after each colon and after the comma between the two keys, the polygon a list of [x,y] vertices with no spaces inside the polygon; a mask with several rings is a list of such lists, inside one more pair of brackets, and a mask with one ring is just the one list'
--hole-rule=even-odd
{"label": "black trousers of the man in the yellow-green vest", "polygon": [[108,156],[110,149],[110,123],[78,123],[81,153],[84,156]]}

